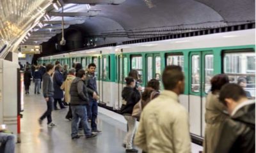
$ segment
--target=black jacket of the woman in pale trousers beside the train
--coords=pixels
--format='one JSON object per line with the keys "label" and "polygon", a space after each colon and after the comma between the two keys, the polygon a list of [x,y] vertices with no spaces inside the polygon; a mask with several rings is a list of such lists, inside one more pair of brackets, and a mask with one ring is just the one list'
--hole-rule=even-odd
{"label": "black jacket of the woman in pale trousers beside the train", "polygon": [[134,90],[132,87],[124,87],[120,113],[122,115],[131,115],[134,105],[140,101],[140,98],[141,95],[138,90]]}

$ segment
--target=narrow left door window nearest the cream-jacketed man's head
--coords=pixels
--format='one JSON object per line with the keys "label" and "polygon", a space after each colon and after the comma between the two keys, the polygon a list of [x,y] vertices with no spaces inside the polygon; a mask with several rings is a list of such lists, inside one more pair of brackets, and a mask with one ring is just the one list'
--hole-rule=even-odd
{"label": "narrow left door window nearest the cream-jacketed man's head", "polygon": [[192,55],[191,91],[200,92],[200,56]]}

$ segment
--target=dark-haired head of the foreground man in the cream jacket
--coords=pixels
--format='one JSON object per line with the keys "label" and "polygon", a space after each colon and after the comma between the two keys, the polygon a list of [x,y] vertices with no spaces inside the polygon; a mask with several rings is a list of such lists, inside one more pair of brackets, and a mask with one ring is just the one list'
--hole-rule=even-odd
{"label": "dark-haired head of the foreground man in the cream jacket", "polygon": [[180,66],[166,66],[163,71],[164,89],[176,94],[184,93],[184,75]]}

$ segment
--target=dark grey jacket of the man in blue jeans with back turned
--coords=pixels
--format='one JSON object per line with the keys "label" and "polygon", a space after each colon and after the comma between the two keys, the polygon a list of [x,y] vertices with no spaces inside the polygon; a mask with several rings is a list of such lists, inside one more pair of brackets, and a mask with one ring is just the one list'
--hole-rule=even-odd
{"label": "dark grey jacket of the man in blue jeans with back turned", "polygon": [[70,85],[70,105],[88,105],[88,91],[81,78],[76,77]]}

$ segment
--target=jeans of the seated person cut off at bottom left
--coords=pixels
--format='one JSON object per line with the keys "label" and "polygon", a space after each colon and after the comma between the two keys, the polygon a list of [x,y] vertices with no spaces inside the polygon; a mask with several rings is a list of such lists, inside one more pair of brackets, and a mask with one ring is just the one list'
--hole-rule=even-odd
{"label": "jeans of the seated person cut off at bottom left", "polygon": [[9,133],[0,133],[0,152],[14,153],[15,150],[15,136]]}

